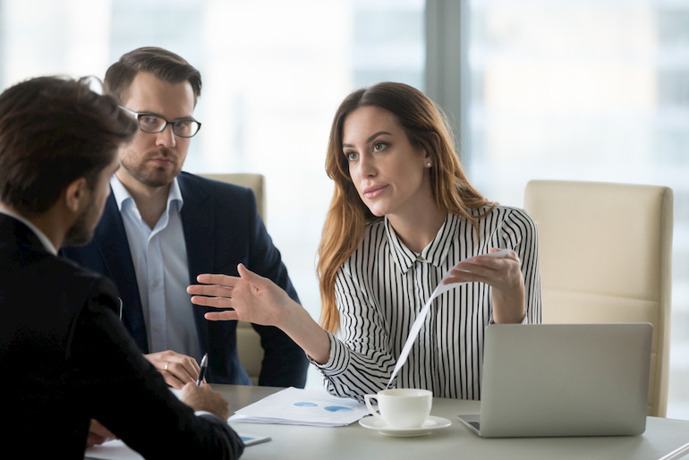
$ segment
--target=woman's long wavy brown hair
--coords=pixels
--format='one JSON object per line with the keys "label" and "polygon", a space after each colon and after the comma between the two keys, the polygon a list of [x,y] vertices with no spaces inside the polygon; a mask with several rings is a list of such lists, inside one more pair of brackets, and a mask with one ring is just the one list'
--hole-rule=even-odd
{"label": "woman's long wavy brown hair", "polygon": [[410,144],[430,154],[433,165],[430,186],[438,209],[463,216],[476,227],[476,218],[467,209],[493,204],[467,180],[444,116],[421,91],[404,83],[383,82],[344,98],[335,114],[327,145],[326,172],[335,181],[335,192],[323,226],[317,264],[320,325],[333,334],[340,322],[335,300],[337,270],[362,242],[367,224],[380,218],[370,212],[356,192],[342,149],[344,121],[362,106],[377,106],[396,115]]}

